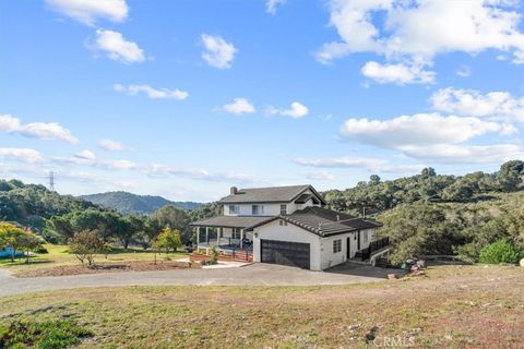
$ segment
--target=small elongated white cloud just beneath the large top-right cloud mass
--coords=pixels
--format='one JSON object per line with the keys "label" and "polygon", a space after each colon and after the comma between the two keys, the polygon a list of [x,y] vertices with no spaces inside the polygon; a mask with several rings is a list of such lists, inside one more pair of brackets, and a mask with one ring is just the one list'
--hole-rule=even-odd
{"label": "small elongated white cloud just beneath the large top-right cloud mass", "polygon": [[380,64],[374,61],[367,62],[361,73],[381,84],[396,83],[398,85],[421,83],[429,84],[434,81],[434,72],[425,71],[420,67],[405,64]]}

